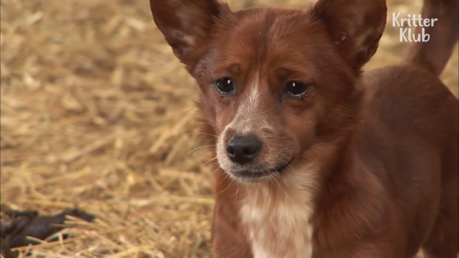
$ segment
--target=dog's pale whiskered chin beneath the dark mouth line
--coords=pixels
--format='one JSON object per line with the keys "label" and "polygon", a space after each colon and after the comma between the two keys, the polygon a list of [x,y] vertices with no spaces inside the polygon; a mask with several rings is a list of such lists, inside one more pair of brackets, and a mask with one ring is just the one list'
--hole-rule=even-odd
{"label": "dog's pale whiskered chin beneath the dark mouth line", "polygon": [[280,177],[282,172],[288,168],[288,164],[264,170],[238,170],[226,171],[229,177],[240,183],[261,183]]}

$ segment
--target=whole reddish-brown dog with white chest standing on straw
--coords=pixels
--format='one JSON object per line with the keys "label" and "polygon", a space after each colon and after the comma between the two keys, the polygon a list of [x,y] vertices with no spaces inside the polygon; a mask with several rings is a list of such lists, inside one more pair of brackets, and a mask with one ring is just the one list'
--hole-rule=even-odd
{"label": "whole reddish-brown dog with white chest standing on straw", "polygon": [[422,17],[438,18],[430,40],[366,72],[384,0],[150,5],[200,88],[218,160],[215,257],[457,257],[458,99],[438,75],[458,40],[458,0],[425,0]]}

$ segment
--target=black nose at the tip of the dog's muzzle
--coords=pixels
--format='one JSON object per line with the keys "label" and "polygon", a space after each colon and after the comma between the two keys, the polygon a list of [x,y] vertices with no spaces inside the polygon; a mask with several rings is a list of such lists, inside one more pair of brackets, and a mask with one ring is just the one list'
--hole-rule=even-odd
{"label": "black nose at the tip of the dog's muzzle", "polygon": [[226,151],[232,162],[243,165],[253,160],[261,146],[261,142],[253,136],[234,136],[226,145]]}

